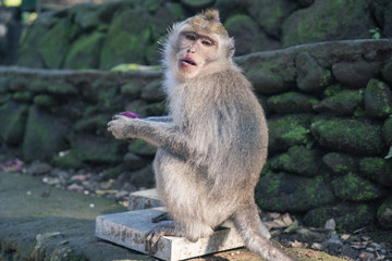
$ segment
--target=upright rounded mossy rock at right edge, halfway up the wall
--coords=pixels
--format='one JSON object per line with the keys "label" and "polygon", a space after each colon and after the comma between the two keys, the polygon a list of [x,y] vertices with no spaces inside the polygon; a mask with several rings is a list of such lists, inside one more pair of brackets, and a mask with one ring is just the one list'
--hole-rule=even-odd
{"label": "upright rounded mossy rock at right edge, halfway up the wall", "polygon": [[378,79],[370,79],[365,90],[366,114],[375,117],[385,117],[392,114],[391,88]]}

